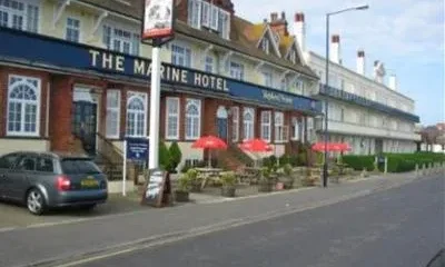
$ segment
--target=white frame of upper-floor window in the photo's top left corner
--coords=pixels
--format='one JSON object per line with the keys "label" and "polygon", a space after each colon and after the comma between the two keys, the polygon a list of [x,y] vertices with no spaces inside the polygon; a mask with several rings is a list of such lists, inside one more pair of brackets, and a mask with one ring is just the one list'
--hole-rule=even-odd
{"label": "white frame of upper-floor window in the photo's top left corner", "polygon": [[[11,7],[12,1],[18,2],[23,4],[23,10],[18,10],[18,9],[13,9]],[[10,1],[10,6],[6,7],[6,6],[0,6],[0,12],[4,12],[8,14],[8,20],[7,20],[7,26],[8,28],[12,28],[13,26],[13,16],[18,16],[21,18],[21,29],[22,31],[30,31],[30,32],[39,32],[39,24],[40,24],[40,7],[38,4],[39,2],[29,2],[29,1],[22,1],[22,0],[11,0]],[[37,21],[34,26],[31,26],[30,23],[32,22],[31,19],[29,19],[31,17],[30,12],[30,7],[37,9]],[[34,28],[34,29],[31,29]]]}

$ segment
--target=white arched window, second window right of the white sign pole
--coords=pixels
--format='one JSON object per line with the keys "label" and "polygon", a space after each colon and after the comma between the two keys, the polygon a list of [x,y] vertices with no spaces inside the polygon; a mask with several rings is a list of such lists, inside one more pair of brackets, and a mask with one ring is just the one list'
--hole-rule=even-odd
{"label": "white arched window, second window right of the white sign pole", "polygon": [[186,103],[186,139],[194,140],[200,136],[201,101],[187,99]]}

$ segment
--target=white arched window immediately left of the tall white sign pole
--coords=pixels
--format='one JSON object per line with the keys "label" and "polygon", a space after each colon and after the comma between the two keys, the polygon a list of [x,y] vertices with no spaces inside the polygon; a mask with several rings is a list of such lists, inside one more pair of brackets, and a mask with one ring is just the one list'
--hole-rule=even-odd
{"label": "white arched window immediately left of the tall white sign pole", "polygon": [[127,136],[146,137],[146,97],[140,95],[130,96],[127,100]]}

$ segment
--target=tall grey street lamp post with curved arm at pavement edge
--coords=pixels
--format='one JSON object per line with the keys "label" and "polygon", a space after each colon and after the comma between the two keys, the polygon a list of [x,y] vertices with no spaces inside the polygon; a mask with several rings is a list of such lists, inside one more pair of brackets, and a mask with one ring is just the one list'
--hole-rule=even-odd
{"label": "tall grey street lamp post with curved arm at pavement edge", "polygon": [[[359,6],[359,7],[353,7],[353,8],[347,8],[347,9],[342,9],[335,12],[326,13],[326,83],[325,83],[325,90],[328,90],[329,88],[329,17],[347,11],[353,11],[353,10],[366,10],[368,9],[369,6]],[[328,144],[328,101],[325,99],[325,157],[324,157],[324,165],[323,165],[323,187],[327,187],[327,177],[328,177],[328,171],[327,171],[327,144]]]}

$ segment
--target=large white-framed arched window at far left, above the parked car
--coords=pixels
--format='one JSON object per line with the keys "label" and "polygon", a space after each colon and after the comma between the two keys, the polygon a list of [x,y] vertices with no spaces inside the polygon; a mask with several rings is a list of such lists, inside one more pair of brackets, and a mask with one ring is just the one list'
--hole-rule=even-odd
{"label": "large white-framed arched window at far left, above the parked car", "polygon": [[38,136],[40,80],[11,76],[8,88],[8,135]]}

